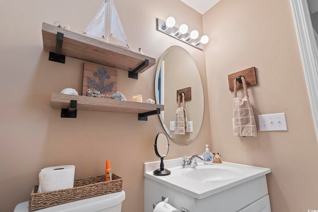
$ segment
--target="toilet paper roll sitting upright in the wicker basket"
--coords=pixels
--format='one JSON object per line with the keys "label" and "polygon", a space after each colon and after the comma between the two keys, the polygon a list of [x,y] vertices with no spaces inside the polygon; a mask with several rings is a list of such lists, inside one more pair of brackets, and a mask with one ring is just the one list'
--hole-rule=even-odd
{"label": "toilet paper roll sitting upright in the wicker basket", "polygon": [[38,193],[69,189],[74,186],[74,165],[47,167],[39,173]]}

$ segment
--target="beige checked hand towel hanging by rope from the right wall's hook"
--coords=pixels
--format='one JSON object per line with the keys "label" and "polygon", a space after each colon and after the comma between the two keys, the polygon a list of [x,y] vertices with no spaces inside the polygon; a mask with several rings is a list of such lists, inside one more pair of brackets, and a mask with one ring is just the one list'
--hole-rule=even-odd
{"label": "beige checked hand towel hanging by rope from the right wall's hook", "polygon": [[244,98],[237,97],[237,79],[234,80],[233,99],[233,133],[234,136],[243,138],[257,137],[256,122],[252,106],[248,100],[245,77],[240,76],[244,88]]}

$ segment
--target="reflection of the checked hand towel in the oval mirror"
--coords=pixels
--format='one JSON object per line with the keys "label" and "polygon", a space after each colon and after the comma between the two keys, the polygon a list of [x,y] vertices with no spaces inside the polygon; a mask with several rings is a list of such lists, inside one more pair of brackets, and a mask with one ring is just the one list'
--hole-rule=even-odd
{"label": "reflection of the checked hand towel in the oval mirror", "polygon": [[178,95],[178,108],[175,112],[174,135],[185,135],[188,132],[188,116],[184,107],[184,93],[182,95],[182,107],[180,107],[180,95]]}

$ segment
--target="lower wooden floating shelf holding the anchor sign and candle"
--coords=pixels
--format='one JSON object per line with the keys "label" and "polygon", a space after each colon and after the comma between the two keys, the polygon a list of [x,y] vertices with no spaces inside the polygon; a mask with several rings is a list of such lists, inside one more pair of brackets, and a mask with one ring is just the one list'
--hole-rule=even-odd
{"label": "lower wooden floating shelf holding the anchor sign and candle", "polygon": [[[71,100],[77,101],[78,110],[96,110],[108,112],[145,114],[153,111],[163,111],[164,105],[142,102],[121,101],[90,96],[74,96],[62,93],[52,93],[52,108],[70,108]],[[147,115],[146,115],[147,117]]]}

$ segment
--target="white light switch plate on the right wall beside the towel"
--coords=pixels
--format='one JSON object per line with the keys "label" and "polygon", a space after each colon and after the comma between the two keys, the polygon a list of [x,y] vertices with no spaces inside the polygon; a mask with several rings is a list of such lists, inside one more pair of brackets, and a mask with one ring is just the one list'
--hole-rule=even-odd
{"label": "white light switch plate on the right wall beside the towel", "polygon": [[259,131],[287,131],[285,113],[258,115]]}

